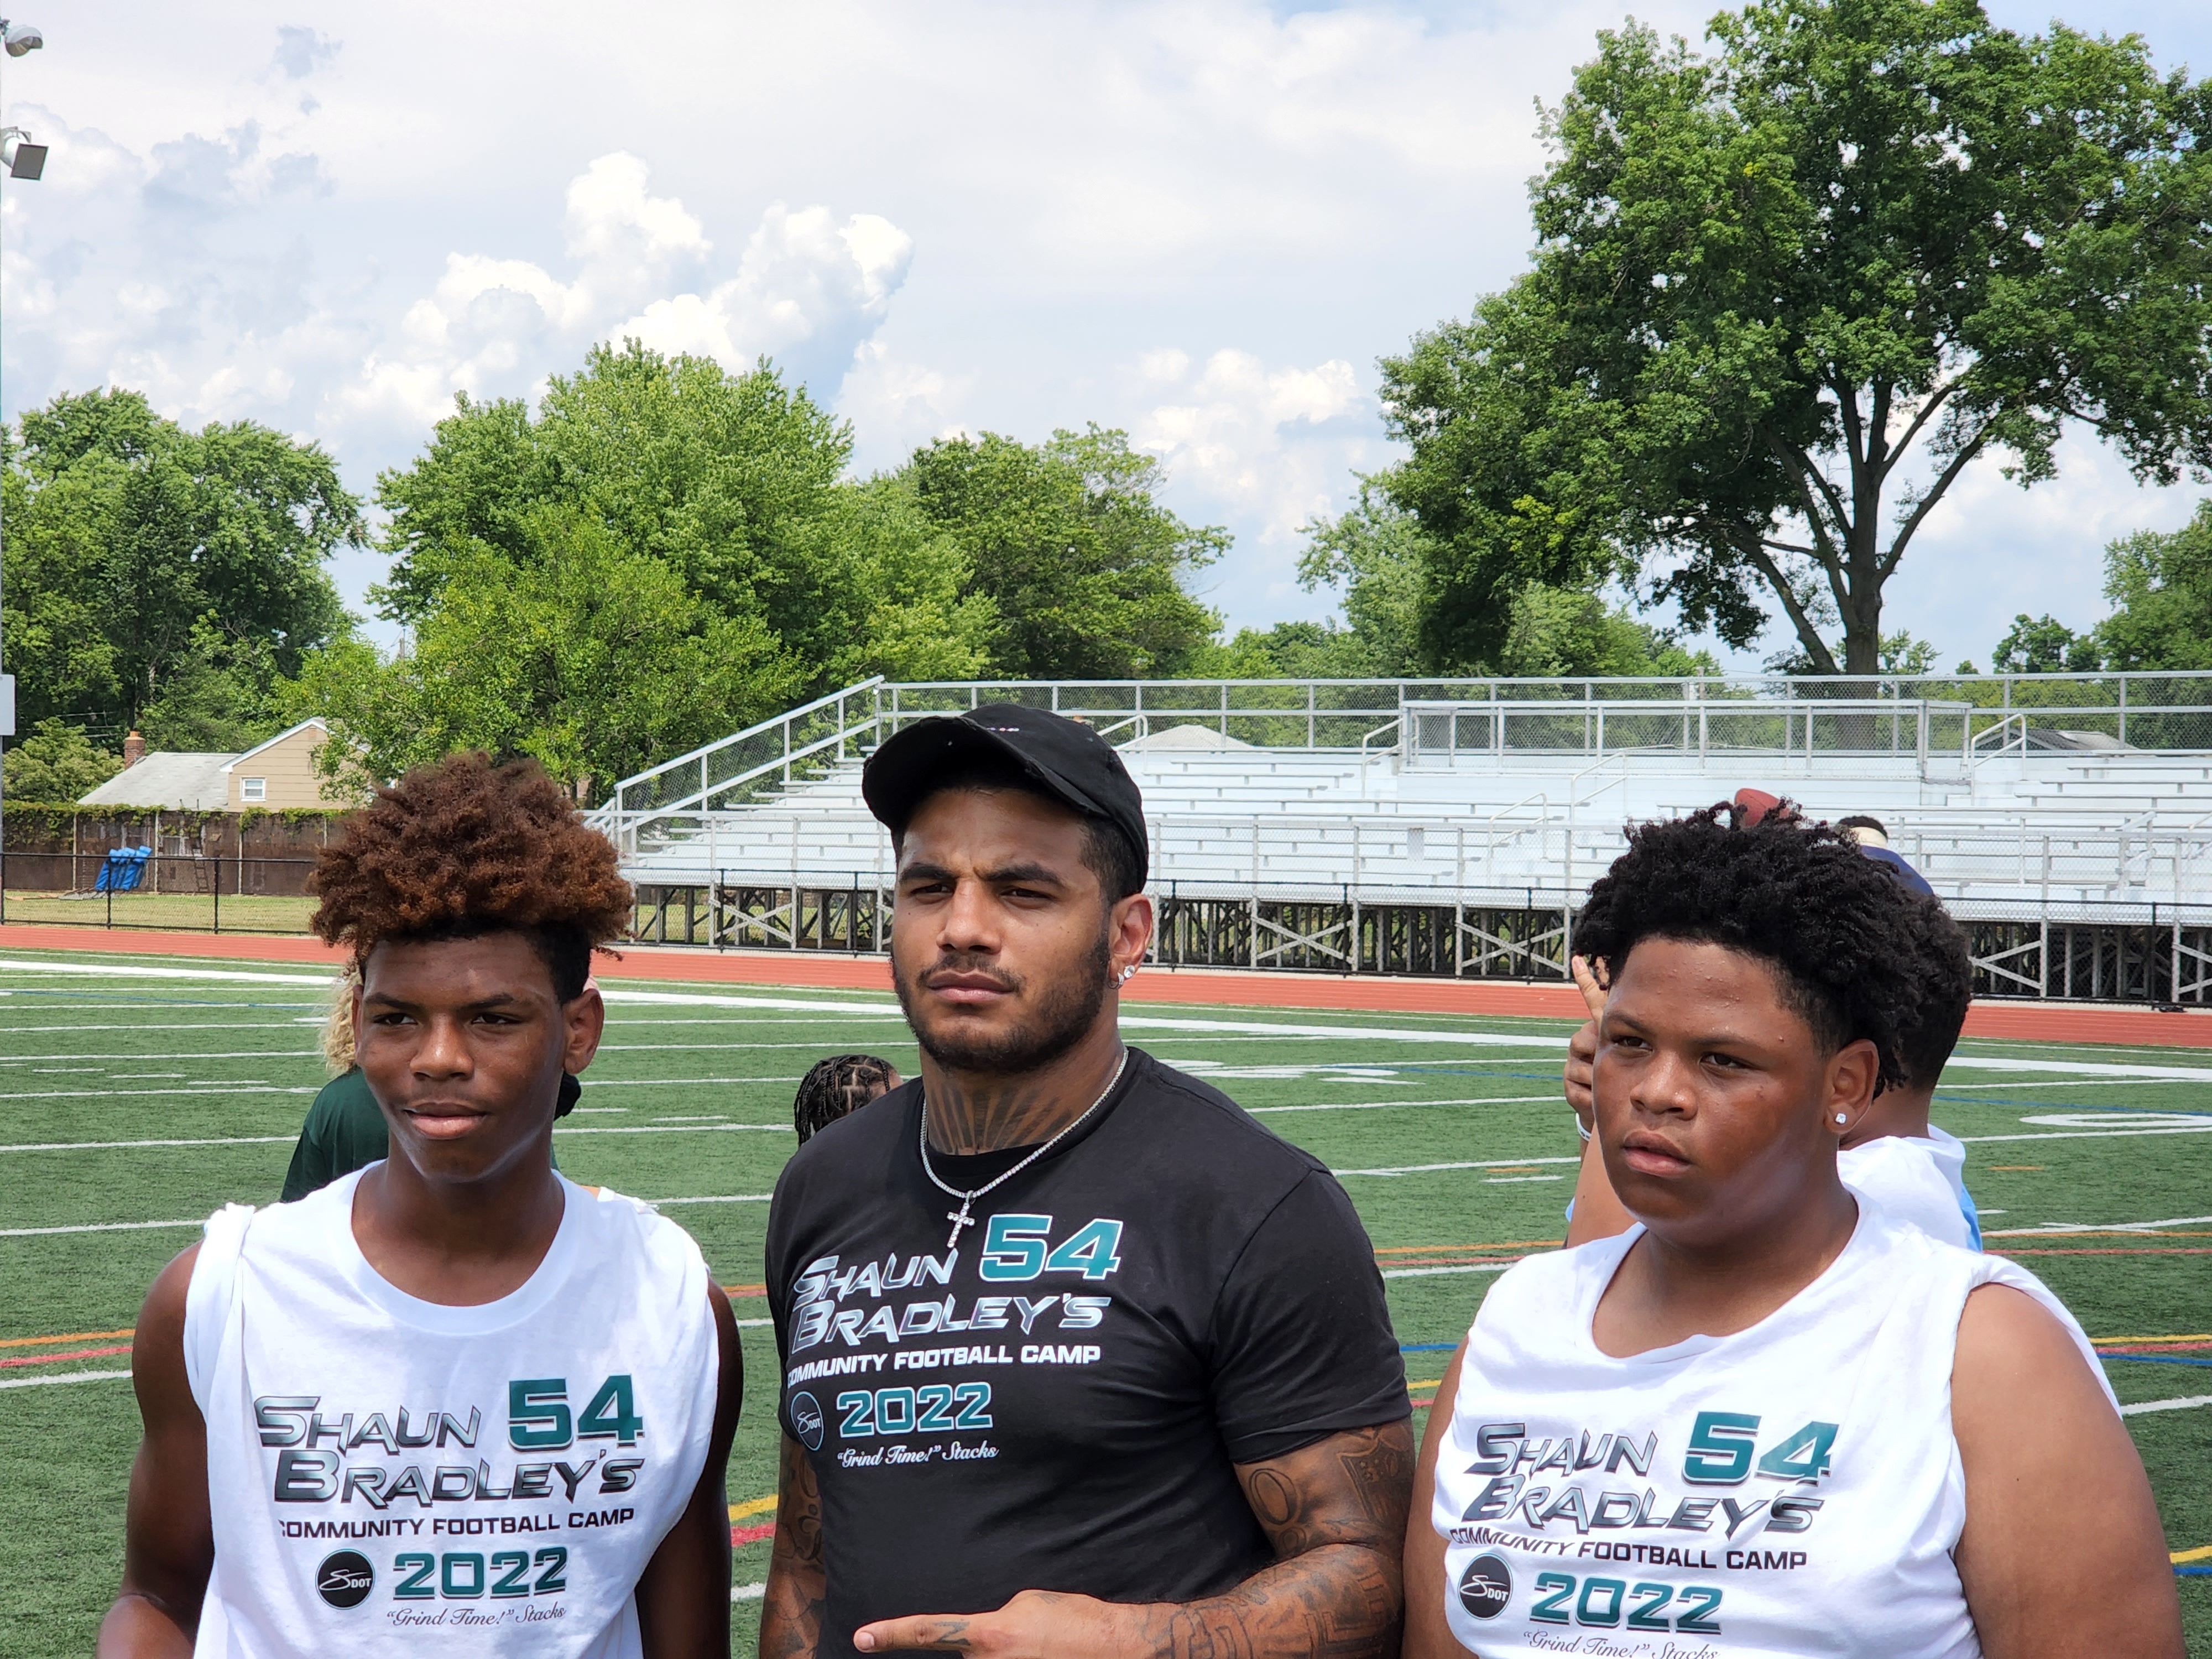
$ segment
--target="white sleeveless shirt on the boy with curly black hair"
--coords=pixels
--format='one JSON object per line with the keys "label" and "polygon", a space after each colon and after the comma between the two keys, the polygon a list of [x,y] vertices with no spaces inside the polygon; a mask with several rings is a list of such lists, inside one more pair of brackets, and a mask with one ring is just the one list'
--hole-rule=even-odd
{"label": "white sleeveless shirt on the boy with curly black hair", "polygon": [[1431,1511],[1460,1646],[1980,1655],[1951,1564],[1958,1318],[1975,1285],[2022,1290],[2101,1380],[2073,1316],[1863,1199],[1843,1254],[1759,1325],[1610,1358],[1590,1318],[1641,1234],[1531,1256],[1475,1314]]}

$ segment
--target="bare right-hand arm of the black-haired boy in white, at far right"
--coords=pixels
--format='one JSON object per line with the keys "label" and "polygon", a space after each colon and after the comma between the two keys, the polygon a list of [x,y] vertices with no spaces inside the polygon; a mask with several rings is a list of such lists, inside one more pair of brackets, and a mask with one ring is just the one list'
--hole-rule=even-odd
{"label": "bare right-hand arm of the black-haired boy in white, at far right", "polygon": [[2143,1460],[2073,1336],[2035,1298],[2008,1285],[1966,1296],[1951,1433],[1966,1471],[1953,1559],[1989,1659],[2181,1659]]}

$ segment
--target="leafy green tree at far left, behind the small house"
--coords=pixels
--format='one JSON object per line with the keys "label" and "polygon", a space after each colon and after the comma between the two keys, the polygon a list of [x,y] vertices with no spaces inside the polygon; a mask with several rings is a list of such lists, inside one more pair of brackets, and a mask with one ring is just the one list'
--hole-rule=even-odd
{"label": "leafy green tree at far left, behind the small house", "polygon": [[345,626],[325,562],[363,524],[332,458],[252,420],[184,431],[137,392],[88,392],[24,414],[7,460],[22,712],[122,728],[190,703],[226,741],[274,730],[274,679]]}

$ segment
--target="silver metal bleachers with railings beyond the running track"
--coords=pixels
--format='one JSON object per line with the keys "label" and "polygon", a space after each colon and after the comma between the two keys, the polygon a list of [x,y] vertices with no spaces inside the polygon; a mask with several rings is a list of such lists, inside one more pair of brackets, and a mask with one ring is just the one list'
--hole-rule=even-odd
{"label": "silver metal bleachers with railings beyond the running track", "polygon": [[617,785],[595,823],[646,933],[876,949],[891,849],[860,763],[987,701],[1121,750],[1164,960],[1557,975],[1624,823],[1754,785],[1882,818],[1975,927],[1989,991],[2197,1002],[2212,982],[2212,675],[878,679]]}

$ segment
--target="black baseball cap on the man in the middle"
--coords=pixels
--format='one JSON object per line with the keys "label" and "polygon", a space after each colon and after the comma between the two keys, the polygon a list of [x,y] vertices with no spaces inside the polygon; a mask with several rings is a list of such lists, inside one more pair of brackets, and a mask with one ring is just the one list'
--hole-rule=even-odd
{"label": "black baseball cap on the man in the middle", "polygon": [[938,714],[889,737],[860,770],[860,799],[876,818],[905,832],[949,768],[969,757],[1011,761],[1053,801],[1104,818],[1137,854],[1137,883],[1148,874],[1144,796],[1113,743],[1082,721],[1020,703],[984,703],[967,714]]}

